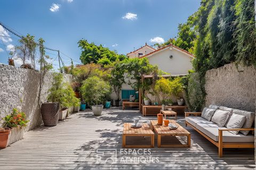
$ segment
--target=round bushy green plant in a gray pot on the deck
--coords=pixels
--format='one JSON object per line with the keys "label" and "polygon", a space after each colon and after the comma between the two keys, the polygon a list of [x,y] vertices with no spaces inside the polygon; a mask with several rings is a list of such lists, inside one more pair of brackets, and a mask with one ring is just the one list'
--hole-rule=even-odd
{"label": "round bushy green plant in a gray pot on the deck", "polygon": [[83,82],[81,91],[83,99],[90,103],[93,114],[100,116],[103,109],[102,103],[111,93],[110,84],[94,76]]}

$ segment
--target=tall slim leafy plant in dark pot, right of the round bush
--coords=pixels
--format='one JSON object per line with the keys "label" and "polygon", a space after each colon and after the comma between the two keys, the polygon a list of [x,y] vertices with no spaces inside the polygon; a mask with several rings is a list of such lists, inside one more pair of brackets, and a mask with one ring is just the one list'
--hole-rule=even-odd
{"label": "tall slim leafy plant in dark pot, right of the round bush", "polygon": [[120,91],[122,89],[123,83],[125,83],[124,73],[125,73],[125,65],[123,62],[115,63],[114,69],[112,69],[110,73],[111,78],[109,82],[116,93],[116,100],[115,100],[116,107],[119,107]]}

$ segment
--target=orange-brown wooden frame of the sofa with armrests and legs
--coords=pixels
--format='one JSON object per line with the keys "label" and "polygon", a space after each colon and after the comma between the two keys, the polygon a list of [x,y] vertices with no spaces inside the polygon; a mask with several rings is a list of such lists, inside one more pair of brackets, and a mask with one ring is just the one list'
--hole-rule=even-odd
{"label": "orange-brown wooden frame of the sofa with armrests and legs", "polygon": [[[195,116],[201,116],[201,112],[185,112],[185,116],[189,116],[189,115],[195,115]],[[239,143],[239,142],[223,142],[223,138],[222,138],[222,132],[223,131],[230,131],[230,130],[250,130],[250,131],[254,131],[254,128],[241,128],[241,129],[219,129],[219,141],[214,141],[212,140],[210,137],[208,137],[206,134],[204,134],[203,132],[199,131],[198,129],[196,129],[195,126],[191,125],[190,123],[188,123],[187,121],[185,121],[186,126],[189,125],[191,126],[193,129],[195,129],[198,133],[200,133],[201,135],[203,135],[203,137],[205,137],[207,140],[209,140],[210,142],[212,142],[215,146],[217,146],[219,148],[219,157],[222,157],[222,150],[223,148],[254,148],[254,142],[250,142],[250,143]]]}

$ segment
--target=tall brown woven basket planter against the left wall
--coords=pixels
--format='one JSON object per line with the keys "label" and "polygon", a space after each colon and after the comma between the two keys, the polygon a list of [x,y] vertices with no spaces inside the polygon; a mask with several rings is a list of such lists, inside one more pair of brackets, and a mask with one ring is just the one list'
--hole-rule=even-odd
{"label": "tall brown woven basket planter against the left wall", "polygon": [[59,120],[59,103],[43,103],[41,115],[45,126],[56,126]]}

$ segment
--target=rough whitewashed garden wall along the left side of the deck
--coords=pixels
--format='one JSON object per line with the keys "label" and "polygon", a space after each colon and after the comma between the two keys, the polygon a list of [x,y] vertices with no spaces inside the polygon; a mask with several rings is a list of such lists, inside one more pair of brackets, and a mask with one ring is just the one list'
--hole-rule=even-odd
{"label": "rough whitewashed garden wall along the left side of the deck", "polygon": [[[45,77],[41,95],[42,102],[46,101],[52,78],[52,73],[48,73]],[[65,82],[70,82],[71,79],[71,75],[64,74]],[[26,130],[42,125],[42,117],[38,106],[38,91],[38,71],[0,64],[0,120],[6,114],[10,114],[13,108],[18,108],[26,113],[29,120]]]}

